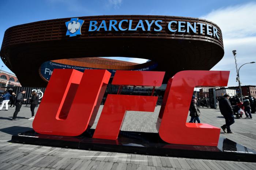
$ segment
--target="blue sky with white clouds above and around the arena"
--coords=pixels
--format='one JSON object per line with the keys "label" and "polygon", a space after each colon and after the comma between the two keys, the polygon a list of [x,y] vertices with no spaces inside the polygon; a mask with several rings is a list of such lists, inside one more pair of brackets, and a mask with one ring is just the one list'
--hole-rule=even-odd
{"label": "blue sky with white clouds above and around the arena", "polygon": [[[0,44],[4,31],[11,26],[90,15],[187,16],[216,23],[222,30],[225,55],[212,70],[230,70],[229,86],[237,85],[232,50],[237,50],[238,67],[246,62],[256,62],[256,1],[248,0],[2,0]],[[138,58],[125,60],[137,63],[146,61]],[[3,70],[10,72],[0,61],[2,65]],[[256,63],[240,69],[240,80],[242,85],[256,85]]]}

